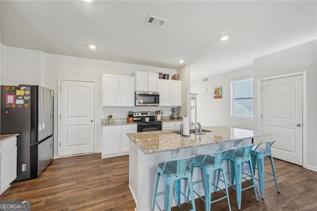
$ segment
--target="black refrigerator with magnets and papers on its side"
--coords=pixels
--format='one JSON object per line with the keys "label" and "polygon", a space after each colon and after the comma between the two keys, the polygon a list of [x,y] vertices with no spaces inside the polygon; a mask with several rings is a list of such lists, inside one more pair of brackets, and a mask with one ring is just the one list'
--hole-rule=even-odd
{"label": "black refrigerator with magnets and papers on its side", "polygon": [[1,134],[20,134],[15,182],[37,178],[53,160],[53,100],[41,86],[1,86]]}

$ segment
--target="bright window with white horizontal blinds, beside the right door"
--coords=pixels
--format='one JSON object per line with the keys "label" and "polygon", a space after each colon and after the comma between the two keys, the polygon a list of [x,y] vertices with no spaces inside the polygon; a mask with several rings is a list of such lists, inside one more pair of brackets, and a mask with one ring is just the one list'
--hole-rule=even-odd
{"label": "bright window with white horizontal blinds, beside the right door", "polygon": [[231,116],[253,118],[253,78],[231,82]]}

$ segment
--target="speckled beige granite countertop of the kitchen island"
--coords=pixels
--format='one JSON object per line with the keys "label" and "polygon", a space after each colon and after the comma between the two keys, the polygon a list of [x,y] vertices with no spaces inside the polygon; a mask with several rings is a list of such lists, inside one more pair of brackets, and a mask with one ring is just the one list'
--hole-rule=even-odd
{"label": "speckled beige granite countertop of the kitchen island", "polygon": [[181,136],[173,133],[173,130],[128,133],[127,136],[144,154],[153,154],[269,135],[252,130],[224,126],[203,127],[203,129],[211,132],[197,135],[196,137],[195,134]]}

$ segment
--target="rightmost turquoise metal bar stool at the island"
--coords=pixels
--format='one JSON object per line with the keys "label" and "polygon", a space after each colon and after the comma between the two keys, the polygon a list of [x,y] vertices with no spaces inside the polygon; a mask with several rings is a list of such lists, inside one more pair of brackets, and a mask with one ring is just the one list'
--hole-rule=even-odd
{"label": "rightmost turquoise metal bar stool at the island", "polygon": [[[256,170],[256,163],[257,163],[257,169],[258,169],[258,175],[259,175],[259,186],[260,186],[260,194],[261,198],[264,199],[264,182],[268,180],[274,179],[275,187],[277,190],[277,193],[279,193],[277,180],[276,180],[276,172],[271,152],[271,146],[273,145],[274,141],[268,141],[268,142],[260,142],[258,146],[254,146],[251,151],[251,159],[253,164],[253,172],[255,173]],[[265,148],[260,147],[261,145],[265,144]],[[268,157],[271,163],[272,168],[272,174],[264,171],[264,158]],[[271,178],[264,179],[264,173],[271,175]]]}

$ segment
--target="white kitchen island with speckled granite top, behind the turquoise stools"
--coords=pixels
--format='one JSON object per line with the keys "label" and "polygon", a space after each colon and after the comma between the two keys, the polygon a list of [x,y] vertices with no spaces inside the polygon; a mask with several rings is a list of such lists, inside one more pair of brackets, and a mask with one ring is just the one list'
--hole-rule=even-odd
{"label": "white kitchen island with speckled granite top, behind the turquoise stools", "polygon": [[[149,211],[152,207],[156,170],[159,163],[170,158],[183,158],[191,155],[204,155],[208,152],[229,149],[238,145],[251,144],[256,137],[266,137],[261,132],[231,128],[224,126],[203,127],[211,132],[202,135],[190,134],[181,136],[173,131],[151,131],[129,133],[129,187],[136,203],[137,211]],[[266,140],[266,139],[265,139]],[[227,169],[225,169],[227,171]],[[214,178],[214,177],[213,177]],[[201,179],[199,171],[194,171],[193,181]],[[219,185],[224,187],[223,184]],[[163,180],[159,184],[159,192],[163,191]],[[182,183],[182,191],[187,185]],[[195,186],[198,193],[204,195],[203,186]],[[197,195],[195,197],[198,197]],[[164,197],[157,199],[163,207]],[[181,203],[185,199],[181,198]],[[175,200],[172,206],[176,206]],[[156,207],[158,209],[158,207]]]}

